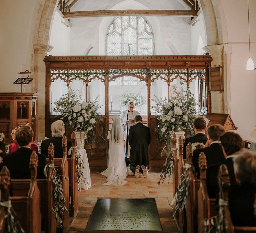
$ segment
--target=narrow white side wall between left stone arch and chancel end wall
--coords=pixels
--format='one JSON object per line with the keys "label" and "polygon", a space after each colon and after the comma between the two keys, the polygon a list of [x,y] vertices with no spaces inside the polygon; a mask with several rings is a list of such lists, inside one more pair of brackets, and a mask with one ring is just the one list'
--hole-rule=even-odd
{"label": "narrow white side wall between left stone arch and chancel end wall", "polygon": [[48,55],[70,55],[70,27],[61,23],[62,17],[55,11],[50,31],[50,45],[53,49]]}

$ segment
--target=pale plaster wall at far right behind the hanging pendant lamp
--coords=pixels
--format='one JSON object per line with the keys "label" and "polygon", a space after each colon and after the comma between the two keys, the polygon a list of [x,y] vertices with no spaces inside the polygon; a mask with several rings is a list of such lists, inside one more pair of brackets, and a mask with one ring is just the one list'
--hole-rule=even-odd
{"label": "pale plaster wall at far right behind the hanging pendant lamp", "polygon": [[[222,0],[231,53],[230,113],[242,138],[256,141],[256,71],[247,71],[249,58],[247,1]],[[249,0],[251,58],[256,65],[256,1]]]}

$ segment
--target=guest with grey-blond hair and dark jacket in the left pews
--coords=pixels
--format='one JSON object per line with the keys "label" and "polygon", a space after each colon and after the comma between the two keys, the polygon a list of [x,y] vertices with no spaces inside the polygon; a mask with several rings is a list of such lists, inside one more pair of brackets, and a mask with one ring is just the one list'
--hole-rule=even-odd
{"label": "guest with grey-blond hair and dark jacket in the left pews", "polygon": [[[48,155],[48,147],[52,142],[54,145],[54,158],[62,158],[63,157],[63,149],[62,149],[62,136],[65,133],[65,125],[62,120],[56,120],[51,125],[52,137],[47,138],[41,143],[41,153],[44,155]],[[71,141],[67,141],[67,155],[71,155]]]}

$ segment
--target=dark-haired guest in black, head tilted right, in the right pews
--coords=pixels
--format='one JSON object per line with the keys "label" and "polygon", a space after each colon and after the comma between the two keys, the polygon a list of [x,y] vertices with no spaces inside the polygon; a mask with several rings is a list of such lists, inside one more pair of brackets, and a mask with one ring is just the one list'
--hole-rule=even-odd
{"label": "dark-haired guest in black, head tilted right, in the right pews", "polygon": [[225,164],[228,168],[231,187],[238,186],[234,173],[233,158],[236,158],[237,152],[244,147],[244,141],[239,134],[226,132],[220,136],[220,142],[226,159],[207,168],[206,182],[210,198],[216,198],[216,194],[219,193],[217,176],[221,164]]}

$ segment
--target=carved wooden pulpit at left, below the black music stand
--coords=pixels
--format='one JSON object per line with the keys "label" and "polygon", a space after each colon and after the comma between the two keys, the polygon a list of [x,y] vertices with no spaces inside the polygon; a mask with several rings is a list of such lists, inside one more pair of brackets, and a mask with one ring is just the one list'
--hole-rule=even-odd
{"label": "carved wooden pulpit at left, below the black music stand", "polygon": [[15,126],[29,123],[36,132],[36,99],[38,93],[0,93],[0,132],[12,142],[11,132]]}

